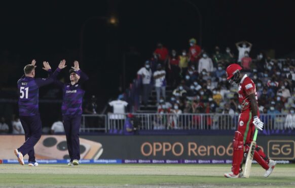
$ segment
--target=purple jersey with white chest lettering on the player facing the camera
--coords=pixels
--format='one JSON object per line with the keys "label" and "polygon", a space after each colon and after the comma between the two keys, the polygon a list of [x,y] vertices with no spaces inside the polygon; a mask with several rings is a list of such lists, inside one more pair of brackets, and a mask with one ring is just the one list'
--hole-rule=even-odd
{"label": "purple jersey with white chest lettering on the player facing the camera", "polygon": [[56,84],[62,88],[63,100],[61,105],[62,115],[75,115],[82,114],[82,103],[85,90],[82,87],[84,81],[88,80],[88,76],[78,71],[80,74],[79,81],[71,85],[71,83],[62,83],[56,80]]}

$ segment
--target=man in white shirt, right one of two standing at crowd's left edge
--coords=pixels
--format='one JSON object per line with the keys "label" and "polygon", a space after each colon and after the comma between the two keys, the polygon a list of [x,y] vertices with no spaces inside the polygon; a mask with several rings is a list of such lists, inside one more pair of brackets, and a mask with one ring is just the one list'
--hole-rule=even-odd
{"label": "man in white shirt, right one of two standing at crowd's left edge", "polygon": [[166,71],[162,69],[161,64],[157,65],[157,71],[154,72],[155,87],[157,92],[157,103],[160,103],[160,96],[162,91],[162,96],[165,100],[166,96]]}

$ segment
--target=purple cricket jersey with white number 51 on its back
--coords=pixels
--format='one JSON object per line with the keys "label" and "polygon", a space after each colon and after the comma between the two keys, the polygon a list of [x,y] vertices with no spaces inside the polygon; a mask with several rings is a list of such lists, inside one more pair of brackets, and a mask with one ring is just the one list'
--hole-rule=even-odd
{"label": "purple cricket jersey with white number 51 on its back", "polygon": [[52,83],[59,72],[60,69],[57,68],[52,74],[51,69],[49,69],[48,73],[50,76],[48,78],[32,78],[25,76],[17,81],[20,116],[39,115],[39,87]]}

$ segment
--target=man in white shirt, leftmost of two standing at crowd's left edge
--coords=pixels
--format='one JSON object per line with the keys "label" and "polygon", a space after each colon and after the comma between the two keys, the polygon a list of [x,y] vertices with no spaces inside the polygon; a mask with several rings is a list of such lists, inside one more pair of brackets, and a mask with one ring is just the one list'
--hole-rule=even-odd
{"label": "man in white shirt, leftmost of two standing at crowd's left edge", "polygon": [[150,61],[145,61],[145,66],[139,69],[137,75],[142,77],[142,86],[143,86],[143,93],[142,93],[142,103],[143,105],[148,104],[149,96],[152,91],[151,79],[152,79],[152,70]]}

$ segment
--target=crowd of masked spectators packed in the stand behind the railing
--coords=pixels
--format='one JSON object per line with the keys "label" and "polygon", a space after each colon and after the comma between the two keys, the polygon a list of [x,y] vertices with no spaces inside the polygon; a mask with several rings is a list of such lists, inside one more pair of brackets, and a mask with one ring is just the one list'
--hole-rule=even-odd
{"label": "crowd of masked spectators packed in the stand behind the railing", "polygon": [[[223,113],[238,115],[238,87],[227,81],[226,68],[232,63],[242,66],[256,84],[261,114],[288,114],[285,126],[295,124],[295,62],[290,58],[278,61],[259,53],[249,56],[252,44],[236,43],[238,55],[229,47],[215,46],[214,53],[202,50],[194,38],[189,50],[168,50],[158,43],[153,57],[137,74],[142,78],[143,105],[147,105],[152,86],[157,92],[158,113]],[[169,53],[170,52],[170,53]],[[172,96],[165,96],[165,87],[173,87]],[[162,93],[162,95],[161,95]],[[295,127],[295,126],[294,126]]]}

